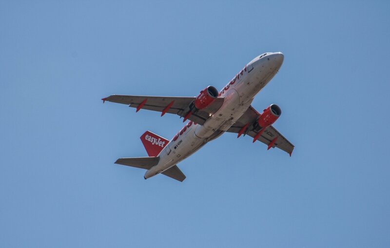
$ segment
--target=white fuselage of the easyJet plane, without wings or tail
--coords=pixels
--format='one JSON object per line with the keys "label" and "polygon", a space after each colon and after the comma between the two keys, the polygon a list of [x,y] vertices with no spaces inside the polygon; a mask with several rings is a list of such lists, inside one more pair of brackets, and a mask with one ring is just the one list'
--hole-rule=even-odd
{"label": "white fuselage of the easyJet plane, without wings or tail", "polygon": [[159,153],[158,164],[145,179],[168,170],[226,132],[251,105],[254,96],[275,76],[283,63],[282,53],[255,57],[220,92],[222,106],[203,124],[188,122]]}

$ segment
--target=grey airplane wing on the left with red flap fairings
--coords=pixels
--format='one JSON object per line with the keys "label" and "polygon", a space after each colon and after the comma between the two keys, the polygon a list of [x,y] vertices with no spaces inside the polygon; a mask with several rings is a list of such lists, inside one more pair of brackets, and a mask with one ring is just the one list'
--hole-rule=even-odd
{"label": "grey airplane wing on the left with red flap fairings", "polygon": [[[189,120],[203,125],[203,123],[214,114],[223,104],[224,97],[217,97],[215,101],[205,109],[199,110],[188,117]],[[180,117],[190,111],[191,104],[195,97],[175,97],[175,96],[147,96],[147,95],[110,95],[102,99],[104,101],[116,102],[129,105],[129,107],[153,110],[165,113],[177,114]]]}

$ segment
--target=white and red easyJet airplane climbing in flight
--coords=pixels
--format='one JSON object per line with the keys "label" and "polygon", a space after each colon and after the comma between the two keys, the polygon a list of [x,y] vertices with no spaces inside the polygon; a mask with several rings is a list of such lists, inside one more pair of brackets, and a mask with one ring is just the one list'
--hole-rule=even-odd
{"label": "white and red easyJet airplane climbing in flight", "polygon": [[177,114],[188,123],[167,140],[150,131],[141,135],[148,157],[119,158],[116,164],[147,170],[144,178],[164,174],[182,182],[186,176],[177,164],[194,154],[207,142],[225,132],[249,135],[270,148],[279,148],[292,154],[294,146],[272,124],[282,113],[279,106],[271,104],[261,114],[251,103],[254,96],[275,76],[284,60],[280,52],[265,53],[255,57],[221,90],[208,86],[196,97],[110,95],[105,101],[126,104],[136,108]]}

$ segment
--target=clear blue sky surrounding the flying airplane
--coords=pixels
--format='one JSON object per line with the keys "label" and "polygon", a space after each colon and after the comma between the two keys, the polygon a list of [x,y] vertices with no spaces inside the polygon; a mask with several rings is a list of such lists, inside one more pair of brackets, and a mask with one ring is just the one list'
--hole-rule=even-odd
{"label": "clear blue sky surrounding the flying airplane", "polygon": [[[389,1],[0,2],[0,247],[390,246]],[[176,115],[100,100],[221,89],[283,52],[254,99],[292,157],[224,134],[187,179],[115,165]]]}

